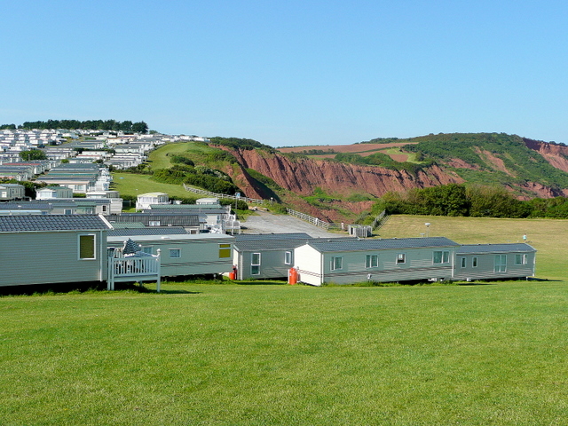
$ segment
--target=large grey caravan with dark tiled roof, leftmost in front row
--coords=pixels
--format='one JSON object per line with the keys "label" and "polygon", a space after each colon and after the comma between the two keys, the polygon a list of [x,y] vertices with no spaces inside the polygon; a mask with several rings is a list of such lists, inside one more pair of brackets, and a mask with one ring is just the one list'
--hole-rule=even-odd
{"label": "large grey caravan with dark tiled roof, leftmost in front row", "polygon": [[109,229],[96,215],[0,217],[0,286],[106,280]]}

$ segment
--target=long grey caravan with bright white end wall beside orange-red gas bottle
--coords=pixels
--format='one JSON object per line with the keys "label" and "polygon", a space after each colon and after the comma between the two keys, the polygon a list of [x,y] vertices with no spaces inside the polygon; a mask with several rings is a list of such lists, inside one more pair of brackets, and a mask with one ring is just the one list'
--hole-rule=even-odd
{"label": "long grey caravan with bright white end wall beside orange-red gas bottle", "polygon": [[299,280],[351,284],[363,281],[452,280],[460,245],[445,237],[361,241],[308,241],[295,250]]}

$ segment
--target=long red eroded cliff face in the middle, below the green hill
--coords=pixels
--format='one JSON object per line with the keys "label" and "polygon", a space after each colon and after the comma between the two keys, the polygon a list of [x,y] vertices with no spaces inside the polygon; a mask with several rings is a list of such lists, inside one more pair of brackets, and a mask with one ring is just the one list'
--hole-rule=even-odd
{"label": "long red eroded cliff face in the middle, below the green hill", "polygon": [[[304,158],[291,160],[280,154],[257,150],[233,151],[233,154],[244,168],[271,177],[281,187],[300,195],[311,195],[313,189],[319,187],[331,194],[369,193],[379,197],[389,191],[463,182],[461,177],[438,166],[419,171],[414,176],[404,170]],[[250,189],[255,191],[252,187]],[[244,187],[243,190],[247,191]]]}

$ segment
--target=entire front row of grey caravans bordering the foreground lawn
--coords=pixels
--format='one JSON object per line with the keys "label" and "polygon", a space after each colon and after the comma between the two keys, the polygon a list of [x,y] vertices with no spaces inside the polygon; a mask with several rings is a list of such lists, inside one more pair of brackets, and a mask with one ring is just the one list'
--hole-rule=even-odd
{"label": "entire front row of grey caravans bordering the foreground lawn", "polygon": [[521,279],[534,276],[535,256],[525,243],[461,245],[445,237],[232,236],[189,234],[181,226],[114,229],[101,215],[0,217],[0,286],[229,273],[237,280],[279,279],[290,270],[299,282],[313,286]]}

